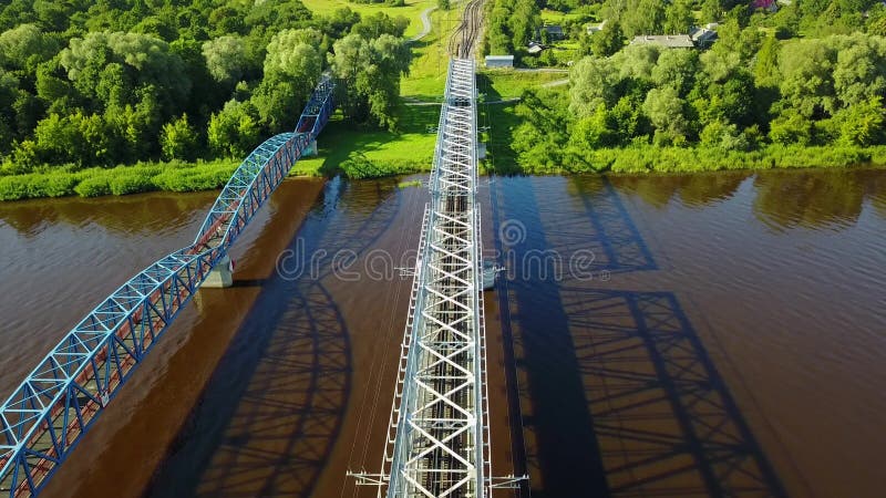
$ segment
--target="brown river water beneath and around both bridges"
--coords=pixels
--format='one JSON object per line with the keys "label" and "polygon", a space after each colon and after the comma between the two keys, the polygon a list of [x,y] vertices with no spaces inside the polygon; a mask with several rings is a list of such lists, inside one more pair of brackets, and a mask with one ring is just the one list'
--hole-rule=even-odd
{"label": "brown river water beneath and around both bridges", "polygon": [[[478,196],[496,497],[884,496],[886,170]],[[0,395],[214,199],[0,204]],[[374,496],[426,199],[286,181],[43,496]]]}

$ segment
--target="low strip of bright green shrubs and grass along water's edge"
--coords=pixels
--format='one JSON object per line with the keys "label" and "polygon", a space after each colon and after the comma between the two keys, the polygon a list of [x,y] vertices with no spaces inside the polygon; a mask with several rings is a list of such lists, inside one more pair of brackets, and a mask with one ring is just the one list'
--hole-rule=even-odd
{"label": "low strip of bright green shrubs and grass along water's edge", "polygon": [[[316,159],[307,159],[308,162]],[[199,191],[222,188],[239,160],[218,159],[198,163],[145,163],[115,168],[89,168],[78,172],[51,169],[44,173],[0,176],[0,200],[52,197],[122,196],[150,191]],[[290,177],[326,177],[341,174],[352,179],[369,179],[423,173],[427,163],[379,164],[364,157],[344,159],[334,170],[298,167]],[[752,152],[724,152],[705,147],[658,147],[597,149],[585,160],[571,165],[537,165],[493,168],[481,165],[482,173],[497,175],[580,175],[580,174],[693,174],[723,170],[886,168],[886,146],[825,147],[773,145]],[[403,183],[413,186],[414,181]]]}

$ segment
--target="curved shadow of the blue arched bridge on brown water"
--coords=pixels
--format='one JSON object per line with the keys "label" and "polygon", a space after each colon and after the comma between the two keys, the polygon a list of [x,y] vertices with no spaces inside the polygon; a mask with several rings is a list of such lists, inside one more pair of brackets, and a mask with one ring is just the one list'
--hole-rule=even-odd
{"label": "curved shadow of the blue arched bridge on brown water", "polygon": [[365,208],[351,188],[330,180],[289,245],[308,259],[327,251],[319,273],[240,283],[261,290],[145,496],[311,495],[351,388],[348,330],[323,281],[336,251],[360,253],[400,207],[388,189],[364,191],[385,196]]}

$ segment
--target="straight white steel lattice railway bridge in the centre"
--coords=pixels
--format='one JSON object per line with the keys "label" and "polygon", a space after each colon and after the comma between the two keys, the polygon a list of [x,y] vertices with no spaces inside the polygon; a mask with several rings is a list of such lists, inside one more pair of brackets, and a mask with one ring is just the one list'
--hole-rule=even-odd
{"label": "straight white steel lattice railway bridge in the centre", "polygon": [[388,497],[490,492],[476,165],[474,62],[453,60],[382,461]]}

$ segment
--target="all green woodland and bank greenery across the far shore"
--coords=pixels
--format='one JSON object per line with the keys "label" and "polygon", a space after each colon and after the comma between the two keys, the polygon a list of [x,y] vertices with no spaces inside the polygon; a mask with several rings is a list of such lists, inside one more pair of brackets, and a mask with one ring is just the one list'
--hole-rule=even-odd
{"label": "all green woodland and bank greenery across the far shore", "polygon": [[[485,169],[886,164],[886,6],[762,3],[487,0],[481,55],[568,74],[481,71],[484,100],[519,96],[482,106],[496,125]],[[329,141],[367,144],[373,158],[327,149],[299,172],[426,168],[414,158],[433,154],[424,129],[435,118],[409,105],[439,94],[443,52],[404,33],[420,30],[425,7],[452,8],[433,14],[439,42],[455,27],[441,20],[464,4],[0,0],[0,199],[218,188],[256,145],[291,129],[324,71],[340,81]],[[631,43],[698,27],[715,41]],[[546,50],[529,53],[533,42]]]}

